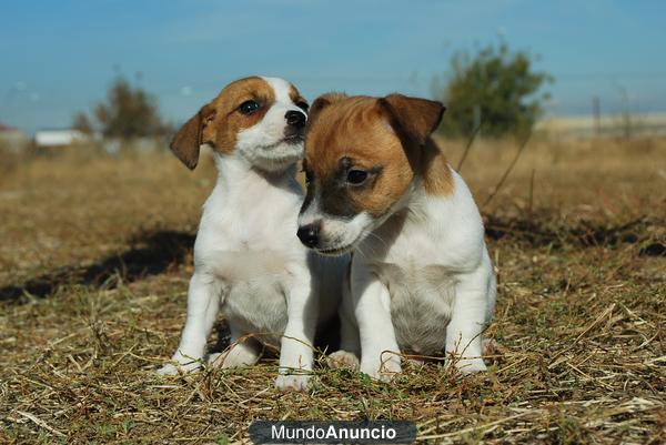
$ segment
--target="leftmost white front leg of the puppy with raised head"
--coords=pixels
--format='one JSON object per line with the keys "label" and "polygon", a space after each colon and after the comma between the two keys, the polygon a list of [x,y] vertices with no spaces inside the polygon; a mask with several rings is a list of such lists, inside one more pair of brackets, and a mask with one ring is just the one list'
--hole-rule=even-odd
{"label": "leftmost white front leg of the puppy with raised head", "polygon": [[180,345],[168,363],[158,370],[164,375],[192,372],[201,366],[205,343],[220,309],[222,283],[215,277],[194,272],[188,290],[188,318]]}

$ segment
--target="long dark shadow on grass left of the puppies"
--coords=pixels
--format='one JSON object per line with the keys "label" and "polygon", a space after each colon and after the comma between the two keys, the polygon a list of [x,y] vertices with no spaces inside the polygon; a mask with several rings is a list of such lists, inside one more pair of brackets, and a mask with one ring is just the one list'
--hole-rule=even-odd
{"label": "long dark shadow on grass left of the puppies", "polygon": [[[134,282],[165,272],[171,265],[182,264],[194,245],[194,235],[185,232],[145,232],[130,240],[131,247],[108,256],[89,266],[69,266],[51,271],[21,285],[0,287],[0,302],[16,302],[28,294],[47,297],[59,286],[81,284],[102,287],[114,283]],[[111,284],[112,286],[112,284]]]}

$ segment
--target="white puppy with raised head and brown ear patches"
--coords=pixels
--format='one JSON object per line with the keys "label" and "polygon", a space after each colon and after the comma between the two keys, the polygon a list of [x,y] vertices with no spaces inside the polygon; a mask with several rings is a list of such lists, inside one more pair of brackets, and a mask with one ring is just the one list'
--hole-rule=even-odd
{"label": "white puppy with raised head and brown ear patches", "polygon": [[252,365],[264,345],[280,345],[275,385],[307,386],[315,330],[336,315],[345,265],[322,261],[294,236],[303,202],[295,169],[303,156],[306,112],[291,83],[251,77],[226,85],[171,142],[190,169],[200,146],[209,145],[218,183],[194,243],[185,327],[173,363],[159,373],[201,366],[221,309],[231,346],[211,354],[209,363]]}

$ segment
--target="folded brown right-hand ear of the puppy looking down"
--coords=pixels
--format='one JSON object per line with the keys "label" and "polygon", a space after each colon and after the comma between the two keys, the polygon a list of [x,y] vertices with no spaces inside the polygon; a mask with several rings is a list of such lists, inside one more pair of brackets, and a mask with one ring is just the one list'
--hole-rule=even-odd
{"label": "folded brown right-hand ear of the puppy looking down", "polygon": [[379,100],[389,115],[391,127],[420,145],[437,129],[446,108],[436,101],[391,94]]}

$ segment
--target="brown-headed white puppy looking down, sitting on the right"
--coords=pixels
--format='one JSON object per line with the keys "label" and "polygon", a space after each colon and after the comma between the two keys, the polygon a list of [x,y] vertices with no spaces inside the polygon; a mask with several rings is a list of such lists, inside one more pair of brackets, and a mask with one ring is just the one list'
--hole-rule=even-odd
{"label": "brown-headed white puppy looking down, sitting on the right", "polygon": [[309,118],[297,236],[323,255],[353,251],[332,358],[357,364],[360,354],[375,378],[401,371],[398,351],[486,368],[495,275],[472,194],[431,139],[443,112],[400,94],[330,93]]}

